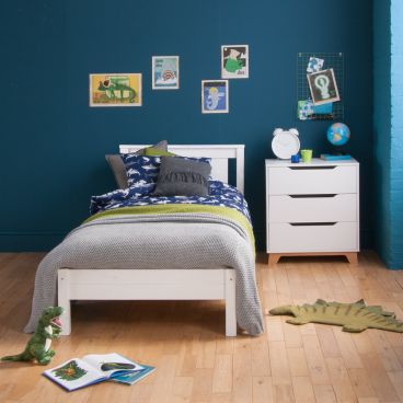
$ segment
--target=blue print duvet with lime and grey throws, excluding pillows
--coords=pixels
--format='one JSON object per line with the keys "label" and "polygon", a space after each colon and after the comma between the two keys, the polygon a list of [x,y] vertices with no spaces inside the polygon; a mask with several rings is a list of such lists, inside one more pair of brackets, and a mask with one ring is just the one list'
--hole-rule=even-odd
{"label": "blue print duvet with lime and grey throws, excluding pillows", "polygon": [[[237,321],[263,333],[255,279],[253,230],[243,196],[211,181],[207,197],[152,197],[119,189],[91,199],[92,216],[41,262],[31,319],[57,302],[57,270],[232,267],[237,273]],[[134,296],[136,299],[136,296]]]}

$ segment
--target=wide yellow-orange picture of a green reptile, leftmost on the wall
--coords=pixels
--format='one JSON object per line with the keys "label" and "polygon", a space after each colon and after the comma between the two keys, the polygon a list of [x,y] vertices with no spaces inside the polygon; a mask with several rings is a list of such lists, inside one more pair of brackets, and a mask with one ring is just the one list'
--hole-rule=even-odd
{"label": "wide yellow-orange picture of a green reptile, leftmost on the wall", "polygon": [[141,73],[90,74],[90,106],[141,106]]}

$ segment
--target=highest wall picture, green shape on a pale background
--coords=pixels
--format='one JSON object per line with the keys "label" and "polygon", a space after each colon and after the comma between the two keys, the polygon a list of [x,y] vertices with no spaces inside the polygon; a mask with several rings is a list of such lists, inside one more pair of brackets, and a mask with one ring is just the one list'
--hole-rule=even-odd
{"label": "highest wall picture, green shape on a pale background", "polygon": [[249,78],[249,45],[221,46],[221,78]]}

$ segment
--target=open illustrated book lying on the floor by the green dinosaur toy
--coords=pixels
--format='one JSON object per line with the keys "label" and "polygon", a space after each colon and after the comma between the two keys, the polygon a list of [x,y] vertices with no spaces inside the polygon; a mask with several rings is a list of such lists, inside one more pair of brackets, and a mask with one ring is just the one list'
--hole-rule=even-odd
{"label": "open illustrated book lying on the floor by the green dinosaur toy", "polygon": [[134,384],[153,370],[153,367],[139,365],[112,353],[69,359],[58,367],[46,370],[44,376],[68,391],[73,391],[106,380]]}

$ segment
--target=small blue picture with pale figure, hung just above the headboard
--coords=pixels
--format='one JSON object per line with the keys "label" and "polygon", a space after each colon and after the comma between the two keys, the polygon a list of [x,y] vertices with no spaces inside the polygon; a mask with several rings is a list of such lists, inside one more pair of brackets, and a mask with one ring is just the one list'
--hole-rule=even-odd
{"label": "small blue picture with pale figure, hung just above the headboard", "polygon": [[228,113],[228,80],[202,81],[202,113]]}

